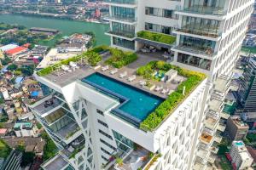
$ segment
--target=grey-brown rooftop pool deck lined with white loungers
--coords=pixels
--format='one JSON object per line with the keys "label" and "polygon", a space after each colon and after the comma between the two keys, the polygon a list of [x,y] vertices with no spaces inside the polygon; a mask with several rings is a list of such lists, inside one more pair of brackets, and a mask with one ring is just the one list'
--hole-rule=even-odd
{"label": "grey-brown rooftop pool deck lined with white loungers", "polygon": [[[124,82],[125,84],[133,86],[135,88],[142,89],[143,91],[148,92],[150,94],[154,94],[162,99],[166,99],[168,97],[168,94],[161,94],[160,93],[161,90],[159,92],[156,92],[154,90],[149,91],[147,89],[144,89],[139,84],[140,81],[146,81],[145,79],[143,79],[143,77],[137,76],[134,81],[128,82],[127,78],[131,77],[132,75],[136,75],[136,71],[137,71],[138,67],[146,65],[146,64],[148,64],[148,62],[153,61],[153,60],[163,60],[163,58],[161,58],[159,55],[155,57],[154,54],[137,53],[137,55],[138,55],[138,59],[135,62],[118,69],[118,72],[114,75],[110,74],[110,71],[112,71],[114,69],[111,66],[109,66],[108,71],[102,71],[101,68],[94,70],[89,65],[85,65],[85,66],[80,67],[79,69],[76,69],[75,71],[65,73],[65,75],[62,75],[61,77],[57,77],[54,74],[49,74],[49,75],[45,76],[45,78],[49,79],[51,82],[55,82],[55,84],[59,85],[60,87],[64,87],[69,83],[75,82],[76,80],[81,80],[82,78],[88,77],[95,72],[99,72],[102,75],[111,77],[115,80],[118,80],[119,82]],[[100,65],[104,65],[103,62],[104,62],[104,60],[108,59],[108,57],[109,56],[103,58]],[[119,74],[123,73],[125,71],[127,71],[127,76],[124,78],[119,78]],[[177,77],[179,77],[179,76],[177,76]],[[182,81],[185,80],[184,77],[180,77],[180,78],[182,79]],[[171,92],[175,91],[178,86],[177,83],[173,83],[173,82],[166,83],[166,82],[157,82],[154,80],[150,80],[149,82],[151,82],[155,86],[162,86],[164,89],[168,88]]]}

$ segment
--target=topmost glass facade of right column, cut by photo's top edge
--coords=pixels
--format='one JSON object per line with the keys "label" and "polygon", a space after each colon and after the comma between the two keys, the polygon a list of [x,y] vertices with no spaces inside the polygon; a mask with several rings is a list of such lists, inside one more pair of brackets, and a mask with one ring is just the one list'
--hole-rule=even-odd
{"label": "topmost glass facade of right column, cut by photo's top edge", "polygon": [[199,14],[224,14],[225,0],[185,0],[184,11]]}

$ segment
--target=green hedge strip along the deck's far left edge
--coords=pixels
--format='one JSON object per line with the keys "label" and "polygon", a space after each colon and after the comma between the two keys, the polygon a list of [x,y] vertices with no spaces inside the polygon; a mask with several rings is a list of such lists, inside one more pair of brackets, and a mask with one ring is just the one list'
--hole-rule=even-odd
{"label": "green hedge strip along the deck's far left edge", "polygon": [[96,66],[102,60],[102,56],[100,55],[100,53],[106,50],[108,50],[107,46],[92,48],[87,52],[84,52],[83,54],[76,55],[69,59],[63,59],[54,65],[49,65],[48,67],[45,67],[44,69],[38,71],[37,74],[40,77],[44,77],[52,73],[53,71],[56,71],[61,65],[68,65],[71,61],[77,62],[81,59],[86,59],[91,66]]}

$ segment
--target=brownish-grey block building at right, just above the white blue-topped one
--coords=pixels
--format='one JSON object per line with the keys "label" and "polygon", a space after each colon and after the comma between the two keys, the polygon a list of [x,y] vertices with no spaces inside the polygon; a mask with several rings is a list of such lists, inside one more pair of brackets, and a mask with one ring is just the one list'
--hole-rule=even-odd
{"label": "brownish-grey block building at right, just above the white blue-topped one", "polygon": [[245,139],[249,130],[247,123],[242,122],[239,116],[230,116],[226,128],[232,140]]}

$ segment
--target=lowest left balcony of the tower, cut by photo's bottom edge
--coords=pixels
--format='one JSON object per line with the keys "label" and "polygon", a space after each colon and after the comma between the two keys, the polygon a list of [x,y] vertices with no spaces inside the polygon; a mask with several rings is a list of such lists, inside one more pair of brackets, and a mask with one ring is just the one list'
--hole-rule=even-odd
{"label": "lowest left balcony of the tower, cut by photo's bottom edge", "polygon": [[[45,161],[41,167],[44,170],[64,170],[69,166],[68,161],[61,155],[57,154],[56,156],[50,158],[48,161]],[[70,168],[73,169],[72,167]]]}

